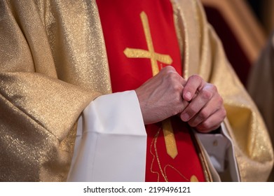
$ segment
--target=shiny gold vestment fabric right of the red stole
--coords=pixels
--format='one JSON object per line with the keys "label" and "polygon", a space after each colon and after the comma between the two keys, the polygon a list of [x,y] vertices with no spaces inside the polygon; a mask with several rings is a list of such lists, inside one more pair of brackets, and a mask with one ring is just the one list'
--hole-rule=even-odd
{"label": "shiny gold vestment fabric right of the red stole", "polygon": [[234,141],[241,181],[266,181],[273,167],[273,148],[258,109],[235,77],[201,4],[174,0],[173,5],[186,76],[199,74],[214,83],[224,99],[225,123]]}

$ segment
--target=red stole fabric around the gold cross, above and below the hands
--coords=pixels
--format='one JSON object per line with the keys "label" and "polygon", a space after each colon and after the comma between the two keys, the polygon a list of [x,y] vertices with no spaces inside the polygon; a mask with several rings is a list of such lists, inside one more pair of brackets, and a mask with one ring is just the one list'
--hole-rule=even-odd
{"label": "red stole fabric around the gold cross, above and below the hands", "polygon": [[[169,0],[97,0],[97,6],[113,92],[134,90],[153,76],[151,59],[127,57],[124,52],[125,48],[142,49],[143,53],[149,50],[144,33],[146,27],[140,18],[142,12],[148,18],[154,52],[170,55],[172,66],[181,74],[181,57]],[[157,61],[157,64],[158,69],[167,66],[165,62]],[[162,124],[146,125],[146,181],[205,181],[188,125],[177,117],[172,117],[171,121],[178,149],[174,159],[167,155]]]}

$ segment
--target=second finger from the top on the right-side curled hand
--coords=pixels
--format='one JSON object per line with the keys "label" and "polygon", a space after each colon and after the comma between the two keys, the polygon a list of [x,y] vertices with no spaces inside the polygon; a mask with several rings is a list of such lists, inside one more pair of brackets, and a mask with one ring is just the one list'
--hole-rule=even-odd
{"label": "second finger from the top on the right-side curled hand", "polygon": [[193,118],[193,116],[196,116],[196,114],[198,114],[199,111],[210,102],[210,99],[212,99],[216,93],[217,89],[214,85],[208,84],[203,87],[203,90],[197,94],[197,96],[190,102],[189,106],[187,106],[181,113],[181,120],[187,122]]}

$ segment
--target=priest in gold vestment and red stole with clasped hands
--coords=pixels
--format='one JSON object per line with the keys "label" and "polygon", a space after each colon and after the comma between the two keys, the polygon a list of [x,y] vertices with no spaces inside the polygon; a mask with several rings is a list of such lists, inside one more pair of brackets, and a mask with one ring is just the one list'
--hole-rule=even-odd
{"label": "priest in gold vestment and red stole with clasped hands", "polygon": [[266,127],[198,1],[0,10],[1,181],[268,178]]}

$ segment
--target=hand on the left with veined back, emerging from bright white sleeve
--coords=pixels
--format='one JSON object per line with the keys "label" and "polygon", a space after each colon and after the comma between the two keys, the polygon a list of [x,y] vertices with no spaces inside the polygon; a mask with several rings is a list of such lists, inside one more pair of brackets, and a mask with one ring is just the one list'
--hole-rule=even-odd
{"label": "hand on the left with veined back, emerging from bright white sleeve", "polygon": [[174,67],[165,66],[135,90],[145,125],[158,123],[184,110],[188,104],[181,97],[185,83]]}

